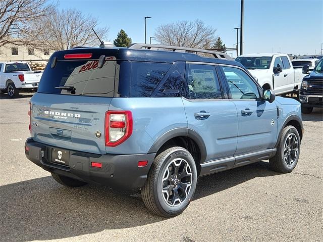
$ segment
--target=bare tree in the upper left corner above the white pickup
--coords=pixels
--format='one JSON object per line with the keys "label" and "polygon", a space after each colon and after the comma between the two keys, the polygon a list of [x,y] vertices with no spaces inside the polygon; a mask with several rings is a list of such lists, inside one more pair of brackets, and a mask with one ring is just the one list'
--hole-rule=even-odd
{"label": "bare tree in the upper left corner above the white pickup", "polygon": [[32,31],[32,21],[50,15],[52,9],[47,0],[0,0],[0,46],[31,43],[21,36]]}

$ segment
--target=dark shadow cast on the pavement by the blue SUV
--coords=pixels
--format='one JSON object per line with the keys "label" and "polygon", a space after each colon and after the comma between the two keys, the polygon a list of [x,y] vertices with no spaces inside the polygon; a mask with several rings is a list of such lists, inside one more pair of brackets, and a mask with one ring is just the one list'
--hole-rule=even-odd
{"label": "dark shadow cast on the pavement by the blue SUV", "polygon": [[[279,174],[259,162],[201,177],[194,200],[255,177]],[[0,204],[3,241],[68,238],[165,220],[151,214],[138,193],[116,195],[95,185],[67,188],[51,176],[0,186]]]}

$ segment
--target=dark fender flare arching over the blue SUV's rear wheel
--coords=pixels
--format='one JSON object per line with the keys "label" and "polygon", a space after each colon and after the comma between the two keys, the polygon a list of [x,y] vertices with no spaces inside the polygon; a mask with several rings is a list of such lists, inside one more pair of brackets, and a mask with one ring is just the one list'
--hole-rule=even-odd
{"label": "dark fender flare arching over the blue SUV's rear wheel", "polygon": [[164,133],[163,135],[161,135],[159,138],[156,139],[156,141],[152,144],[152,147],[149,149],[148,153],[157,153],[164,143],[166,143],[168,140],[172,138],[179,137],[179,136],[189,137],[193,139],[196,142],[201,153],[200,162],[205,161],[206,159],[205,143],[201,135],[199,135],[199,133],[189,128],[174,128],[167,131],[166,133]]}

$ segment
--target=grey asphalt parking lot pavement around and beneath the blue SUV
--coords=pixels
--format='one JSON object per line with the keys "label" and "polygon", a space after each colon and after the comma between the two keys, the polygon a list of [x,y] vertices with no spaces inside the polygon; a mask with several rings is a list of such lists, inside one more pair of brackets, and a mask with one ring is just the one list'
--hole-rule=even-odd
{"label": "grey asphalt parking lot pavement around and beneath the blue SUV", "polygon": [[140,194],[66,188],[27,160],[31,93],[0,96],[0,241],[322,241],[323,113],[303,115],[292,173],[267,161],[202,177],[175,218],[147,211]]}

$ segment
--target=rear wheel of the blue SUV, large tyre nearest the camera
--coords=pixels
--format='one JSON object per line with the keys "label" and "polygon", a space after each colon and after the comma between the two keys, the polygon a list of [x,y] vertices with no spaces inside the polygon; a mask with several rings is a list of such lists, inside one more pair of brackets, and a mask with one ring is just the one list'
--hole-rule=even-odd
{"label": "rear wheel of the blue SUV, large tyre nearest the camera", "polygon": [[153,161],[141,188],[145,206],[163,217],[181,214],[191,202],[197,182],[192,155],[182,147],[172,147]]}

